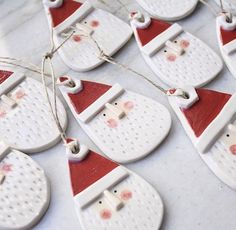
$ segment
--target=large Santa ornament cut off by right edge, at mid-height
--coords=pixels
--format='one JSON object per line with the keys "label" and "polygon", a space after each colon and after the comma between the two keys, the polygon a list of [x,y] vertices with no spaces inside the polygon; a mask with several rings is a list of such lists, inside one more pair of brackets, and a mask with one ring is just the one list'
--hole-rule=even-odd
{"label": "large Santa ornament cut off by right edge, at mid-height", "polygon": [[169,97],[201,158],[224,183],[236,189],[236,94],[183,87],[189,99]]}

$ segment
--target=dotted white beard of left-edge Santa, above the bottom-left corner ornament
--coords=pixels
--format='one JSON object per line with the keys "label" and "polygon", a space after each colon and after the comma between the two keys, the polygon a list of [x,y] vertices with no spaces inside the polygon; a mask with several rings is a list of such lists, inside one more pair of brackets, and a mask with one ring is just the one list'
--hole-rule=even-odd
{"label": "dotted white beard of left-edge Santa, above the bottom-left corner ornament", "polygon": [[[16,108],[0,118],[0,139],[12,148],[27,153],[53,146],[60,140],[60,134],[50,113],[42,84],[26,78],[11,94],[15,95],[19,90],[26,95],[18,100]],[[49,95],[52,96],[51,91]],[[62,127],[65,128],[66,112],[59,99],[57,104]]]}

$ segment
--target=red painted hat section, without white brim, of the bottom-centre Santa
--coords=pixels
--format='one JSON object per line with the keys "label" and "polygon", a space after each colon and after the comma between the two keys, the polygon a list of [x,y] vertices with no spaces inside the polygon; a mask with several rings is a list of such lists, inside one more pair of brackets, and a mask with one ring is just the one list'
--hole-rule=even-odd
{"label": "red painted hat section, without white brim, of the bottom-centre Santa", "polygon": [[92,151],[89,151],[82,161],[69,161],[74,196],[89,188],[118,166],[117,163]]}

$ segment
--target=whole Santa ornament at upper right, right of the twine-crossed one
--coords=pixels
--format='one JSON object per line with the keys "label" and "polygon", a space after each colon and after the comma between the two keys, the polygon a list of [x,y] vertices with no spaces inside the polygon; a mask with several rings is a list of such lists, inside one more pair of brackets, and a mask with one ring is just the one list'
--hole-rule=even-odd
{"label": "whole Santa ornament at upper right, right of the twine-crossed one", "polygon": [[222,70],[220,57],[178,24],[152,19],[139,12],[130,15],[143,58],[166,84],[200,87]]}

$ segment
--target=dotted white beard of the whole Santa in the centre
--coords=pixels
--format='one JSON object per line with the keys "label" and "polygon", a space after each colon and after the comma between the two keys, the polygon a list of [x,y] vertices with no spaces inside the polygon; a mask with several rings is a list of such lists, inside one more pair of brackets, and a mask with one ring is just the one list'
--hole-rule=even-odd
{"label": "dotted white beard of the whole Santa in the centre", "polygon": [[125,91],[115,102],[131,101],[134,108],[110,128],[101,111],[90,122],[80,125],[90,138],[111,159],[130,162],[140,159],[155,149],[167,136],[171,127],[168,110],[156,101],[142,95]]}

